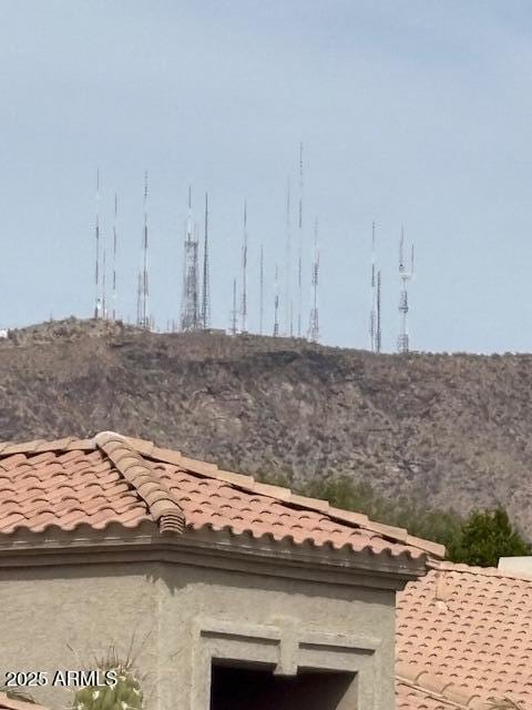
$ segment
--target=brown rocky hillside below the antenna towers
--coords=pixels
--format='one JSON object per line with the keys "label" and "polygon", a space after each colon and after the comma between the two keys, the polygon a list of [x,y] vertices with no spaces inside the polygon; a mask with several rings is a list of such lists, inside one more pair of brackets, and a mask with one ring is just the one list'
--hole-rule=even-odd
{"label": "brown rocky hillside below the antenna towers", "polygon": [[116,429],[246,473],[346,473],[532,534],[532,355],[372,355],[68,321],[0,341],[0,438]]}

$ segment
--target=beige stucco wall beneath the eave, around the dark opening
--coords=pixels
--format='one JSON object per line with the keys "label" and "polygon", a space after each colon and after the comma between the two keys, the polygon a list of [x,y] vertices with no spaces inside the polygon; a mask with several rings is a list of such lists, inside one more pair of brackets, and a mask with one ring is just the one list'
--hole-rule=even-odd
{"label": "beige stucco wall beneath the eave, around the dark opening", "polygon": [[[43,670],[51,677],[55,669],[91,666],[110,643],[126,650],[135,635],[151,710],[207,710],[195,688],[208,677],[202,663],[229,647],[249,649],[250,657],[257,652],[257,659],[263,650],[277,660],[282,656],[285,669],[298,652],[319,663],[338,658],[349,665],[356,657],[366,663],[367,678],[357,710],[393,708],[392,590],[175,562],[99,564],[0,569],[0,684],[7,670]],[[217,622],[223,632],[214,628]],[[255,643],[255,633],[270,633],[272,640]],[[324,635],[330,653],[320,651]],[[370,639],[374,650],[358,656],[357,639],[360,647]],[[58,710],[72,694],[34,690],[38,700]]]}

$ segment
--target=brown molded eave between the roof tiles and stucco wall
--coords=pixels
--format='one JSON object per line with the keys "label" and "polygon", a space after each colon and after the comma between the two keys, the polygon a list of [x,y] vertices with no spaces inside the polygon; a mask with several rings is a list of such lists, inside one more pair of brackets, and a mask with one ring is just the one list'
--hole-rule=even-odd
{"label": "brown molded eave between the roof tiles and stucco wall", "polygon": [[[208,527],[162,535],[155,523],[130,529],[110,525],[104,530],[80,526],[64,531],[50,527],[40,532],[18,529],[0,536],[2,570],[47,566],[164,562],[275,576],[329,585],[400,590],[427,574],[427,556],[411,557],[370,549],[355,551],[330,545],[277,541],[264,535],[235,535]],[[57,572],[55,572],[57,574]]]}

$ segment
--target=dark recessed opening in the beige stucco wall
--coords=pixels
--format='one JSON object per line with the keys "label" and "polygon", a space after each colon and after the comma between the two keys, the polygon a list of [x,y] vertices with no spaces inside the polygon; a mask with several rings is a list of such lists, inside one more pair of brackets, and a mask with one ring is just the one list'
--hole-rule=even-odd
{"label": "dark recessed opening in the beige stucco wall", "polygon": [[[344,710],[354,673],[301,670],[274,676],[264,667],[213,663],[211,710]],[[349,702],[350,710],[356,710]]]}

